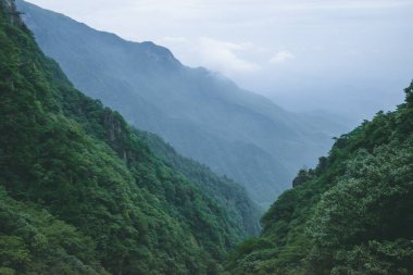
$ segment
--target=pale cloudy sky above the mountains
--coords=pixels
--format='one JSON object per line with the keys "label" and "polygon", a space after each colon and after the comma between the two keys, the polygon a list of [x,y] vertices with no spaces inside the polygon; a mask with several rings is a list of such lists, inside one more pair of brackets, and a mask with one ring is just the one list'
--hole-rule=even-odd
{"label": "pale cloudy sky above the mountains", "polygon": [[165,46],[291,111],[370,118],[401,103],[413,79],[413,0],[29,2]]}

